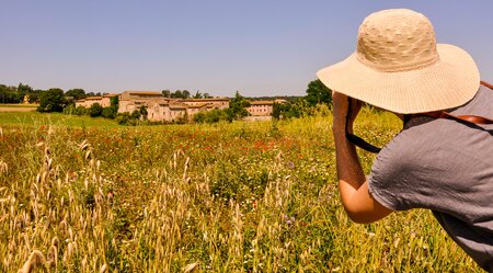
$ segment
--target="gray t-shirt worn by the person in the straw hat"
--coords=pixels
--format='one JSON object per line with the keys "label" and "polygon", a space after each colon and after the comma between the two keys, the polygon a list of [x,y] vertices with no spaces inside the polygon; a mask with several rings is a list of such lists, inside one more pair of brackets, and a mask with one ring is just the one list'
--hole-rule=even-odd
{"label": "gray t-shirt worn by the person in the straw hat", "polygon": [[[455,115],[493,118],[481,86]],[[378,155],[369,191],[393,211],[429,208],[448,235],[493,272],[493,125],[415,117]]]}

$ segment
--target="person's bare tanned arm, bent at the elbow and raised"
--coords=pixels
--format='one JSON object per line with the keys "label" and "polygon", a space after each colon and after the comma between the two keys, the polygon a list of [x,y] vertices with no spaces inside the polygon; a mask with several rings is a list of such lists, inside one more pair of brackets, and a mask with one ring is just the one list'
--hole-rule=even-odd
{"label": "person's bare tanned arm, bent at the elbow and raised", "polygon": [[[363,172],[356,147],[346,139],[345,121],[347,113],[347,96],[337,92],[333,93],[334,133],[336,169],[339,178],[339,189],[341,200],[349,218],[356,223],[371,223],[379,220],[390,213],[391,209],[378,203],[368,191],[368,181]],[[354,100],[357,105],[351,114],[348,132],[353,132],[353,122],[356,118],[360,103]]]}

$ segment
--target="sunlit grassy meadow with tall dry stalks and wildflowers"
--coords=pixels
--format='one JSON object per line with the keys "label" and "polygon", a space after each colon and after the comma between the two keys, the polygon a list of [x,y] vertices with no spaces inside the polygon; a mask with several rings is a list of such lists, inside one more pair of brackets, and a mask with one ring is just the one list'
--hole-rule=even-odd
{"label": "sunlit grassy meadow with tall dry stalks and wildflowers", "polygon": [[[330,124],[0,114],[0,271],[480,272],[429,212],[351,223]],[[356,133],[400,126],[366,111]]]}

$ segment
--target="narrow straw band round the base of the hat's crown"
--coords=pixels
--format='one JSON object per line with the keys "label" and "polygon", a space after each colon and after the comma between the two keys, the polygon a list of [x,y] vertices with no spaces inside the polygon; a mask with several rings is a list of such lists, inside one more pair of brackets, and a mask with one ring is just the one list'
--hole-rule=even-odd
{"label": "narrow straw band round the base of the hat's crown", "polygon": [[365,55],[362,53],[356,53],[356,59],[362,62],[363,65],[370,67],[375,70],[381,71],[381,72],[403,72],[403,71],[410,71],[410,70],[419,70],[422,68],[431,67],[438,62],[440,59],[438,54],[429,55],[428,58],[421,58],[416,61],[409,62],[409,64],[376,64],[371,60],[368,60],[365,58]]}

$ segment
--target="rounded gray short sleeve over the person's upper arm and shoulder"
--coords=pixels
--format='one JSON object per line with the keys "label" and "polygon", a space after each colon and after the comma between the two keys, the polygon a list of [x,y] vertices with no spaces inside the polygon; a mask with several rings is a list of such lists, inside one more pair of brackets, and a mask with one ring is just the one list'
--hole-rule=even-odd
{"label": "rounded gray short sleeve over the person's upper arm and shoulder", "polygon": [[462,215],[479,215],[493,196],[486,190],[492,185],[491,135],[447,120],[410,123],[374,161],[371,195],[393,211],[456,214],[460,206],[468,211]]}

